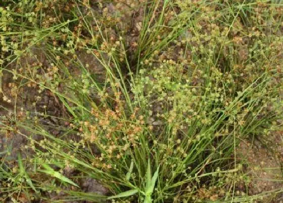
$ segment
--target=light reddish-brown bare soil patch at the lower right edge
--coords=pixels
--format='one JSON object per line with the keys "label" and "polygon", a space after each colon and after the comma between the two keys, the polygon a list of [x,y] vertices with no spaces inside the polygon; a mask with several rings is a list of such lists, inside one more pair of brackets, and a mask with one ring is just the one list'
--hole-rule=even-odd
{"label": "light reddish-brown bare soil patch at the lower right edge", "polygon": [[[247,160],[247,175],[251,182],[248,194],[279,190],[283,188],[283,132],[274,133],[267,145],[255,141],[242,142],[238,151],[240,157]],[[263,202],[282,202],[283,191],[279,192],[275,201],[264,198]]]}

